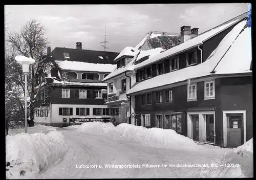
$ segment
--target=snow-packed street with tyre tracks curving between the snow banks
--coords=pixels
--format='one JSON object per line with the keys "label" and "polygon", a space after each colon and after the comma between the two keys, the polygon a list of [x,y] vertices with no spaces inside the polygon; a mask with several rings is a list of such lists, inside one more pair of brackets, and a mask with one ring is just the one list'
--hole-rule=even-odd
{"label": "snow-packed street with tyre tracks curving between the snow banks", "polygon": [[[58,129],[69,146],[63,161],[41,172],[38,178],[141,178],[191,177],[197,168],[169,168],[169,164],[204,164],[220,158],[228,149],[199,145],[204,151],[152,148],[132,141],[80,133],[76,129]],[[134,165],[131,168],[105,168],[105,165]],[[142,165],[160,165],[146,168]],[[162,167],[166,164],[166,167]],[[80,165],[80,166],[79,166]],[[84,165],[82,167],[81,165]],[[97,165],[87,168],[85,165]],[[102,165],[102,168],[99,167]],[[137,168],[136,168],[136,166]],[[140,167],[139,167],[140,166]],[[80,168],[79,168],[80,167]]]}

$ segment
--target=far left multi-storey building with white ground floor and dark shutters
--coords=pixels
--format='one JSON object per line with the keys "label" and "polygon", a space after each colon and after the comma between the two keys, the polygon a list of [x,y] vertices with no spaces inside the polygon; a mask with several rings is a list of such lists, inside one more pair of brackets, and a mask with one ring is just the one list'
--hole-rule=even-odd
{"label": "far left multi-storey building with white ground floor and dark shutters", "polygon": [[[119,53],[55,48],[52,68],[38,75],[37,102],[34,119],[38,124],[62,126],[71,121],[109,120],[106,83],[101,80],[116,69],[114,59]],[[45,82],[41,82],[45,79]],[[37,85],[38,85],[37,84]]]}

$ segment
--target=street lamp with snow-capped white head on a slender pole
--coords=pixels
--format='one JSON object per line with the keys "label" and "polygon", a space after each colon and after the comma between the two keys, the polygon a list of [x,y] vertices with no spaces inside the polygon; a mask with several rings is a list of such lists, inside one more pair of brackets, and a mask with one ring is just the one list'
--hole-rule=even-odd
{"label": "street lamp with snow-capped white head on a slender pole", "polygon": [[29,65],[35,62],[31,57],[16,56],[15,60],[22,64],[22,71],[25,75],[25,133],[27,133],[27,75],[29,74]]}

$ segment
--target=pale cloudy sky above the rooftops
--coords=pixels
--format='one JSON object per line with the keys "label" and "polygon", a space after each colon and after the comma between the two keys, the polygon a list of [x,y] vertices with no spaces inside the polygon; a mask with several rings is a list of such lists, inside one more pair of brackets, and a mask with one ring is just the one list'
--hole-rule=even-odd
{"label": "pale cloudy sky above the rooftops", "polygon": [[248,11],[248,4],[146,5],[10,5],[5,6],[9,31],[19,31],[30,19],[47,29],[49,46],[103,50],[106,25],[108,51],[135,47],[148,31],[180,33],[181,26],[202,33]]}

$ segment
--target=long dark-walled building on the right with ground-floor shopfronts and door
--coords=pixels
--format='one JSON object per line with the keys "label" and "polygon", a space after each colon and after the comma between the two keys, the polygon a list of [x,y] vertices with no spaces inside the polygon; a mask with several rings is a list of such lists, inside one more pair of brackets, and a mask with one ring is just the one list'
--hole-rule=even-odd
{"label": "long dark-walled building on the right with ground-floor shopfronts and door", "polygon": [[[129,68],[138,125],[173,129],[197,142],[237,147],[252,138],[249,12]],[[249,17],[249,18],[248,18]],[[195,33],[196,32],[196,33]],[[146,78],[147,77],[147,78]]]}

